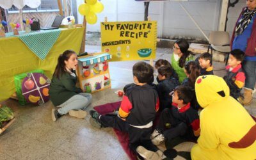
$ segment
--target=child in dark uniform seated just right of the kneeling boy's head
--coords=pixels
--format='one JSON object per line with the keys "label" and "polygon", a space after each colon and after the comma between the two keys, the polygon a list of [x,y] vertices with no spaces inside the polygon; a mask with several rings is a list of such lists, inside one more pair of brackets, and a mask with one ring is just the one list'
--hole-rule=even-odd
{"label": "child in dark uniform seated just right of the kneeling boy's head", "polygon": [[172,106],[172,97],[170,96],[170,92],[179,85],[179,81],[173,77],[173,70],[169,66],[159,67],[157,71],[157,78],[159,79],[159,82],[156,89],[160,102],[159,111],[163,111],[163,109],[170,108]]}

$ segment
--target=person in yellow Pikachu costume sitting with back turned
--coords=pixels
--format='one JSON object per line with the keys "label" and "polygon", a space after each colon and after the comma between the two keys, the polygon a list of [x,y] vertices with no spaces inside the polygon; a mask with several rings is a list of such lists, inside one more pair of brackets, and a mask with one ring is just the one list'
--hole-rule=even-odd
{"label": "person in yellow Pikachu costume sitting with back turned", "polygon": [[256,123],[229,95],[225,81],[207,75],[196,79],[196,99],[202,108],[201,134],[192,159],[256,159]]}

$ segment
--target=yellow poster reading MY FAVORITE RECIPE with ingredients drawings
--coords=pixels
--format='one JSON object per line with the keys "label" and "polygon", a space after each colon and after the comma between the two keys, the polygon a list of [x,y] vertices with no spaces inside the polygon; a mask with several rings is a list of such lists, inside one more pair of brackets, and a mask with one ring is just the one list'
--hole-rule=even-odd
{"label": "yellow poster reading MY FAVORITE RECIPE with ingredients drawings", "polygon": [[156,57],[156,21],[101,22],[102,52],[112,61],[150,60]]}

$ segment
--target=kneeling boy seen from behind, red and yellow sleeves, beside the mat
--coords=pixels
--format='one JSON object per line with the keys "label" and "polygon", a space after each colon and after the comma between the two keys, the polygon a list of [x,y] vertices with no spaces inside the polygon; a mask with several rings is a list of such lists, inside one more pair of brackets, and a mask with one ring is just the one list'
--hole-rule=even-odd
{"label": "kneeling boy seen from behind, red and yellow sleeves, beside the mat", "polygon": [[[159,155],[163,154],[150,140],[153,120],[159,109],[157,92],[153,86],[147,84],[154,76],[153,73],[154,68],[143,61],[136,63],[132,67],[135,84],[125,86],[125,95],[117,116],[99,115],[97,111],[90,111],[92,118],[101,127],[113,127],[120,131],[128,132],[129,147],[140,155],[141,150],[136,150],[141,148],[139,146],[143,146],[157,154],[159,153]],[[92,121],[90,122],[92,123]]]}

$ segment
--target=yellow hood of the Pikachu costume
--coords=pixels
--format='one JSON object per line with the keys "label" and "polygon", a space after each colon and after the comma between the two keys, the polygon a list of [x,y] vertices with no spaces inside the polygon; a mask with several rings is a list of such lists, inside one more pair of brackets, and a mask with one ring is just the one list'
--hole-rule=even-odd
{"label": "yellow hood of the Pikachu costume", "polygon": [[229,88],[224,79],[214,75],[198,77],[195,90],[196,99],[202,108],[229,97]]}

